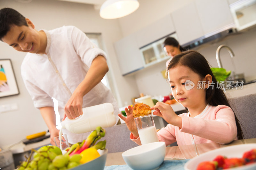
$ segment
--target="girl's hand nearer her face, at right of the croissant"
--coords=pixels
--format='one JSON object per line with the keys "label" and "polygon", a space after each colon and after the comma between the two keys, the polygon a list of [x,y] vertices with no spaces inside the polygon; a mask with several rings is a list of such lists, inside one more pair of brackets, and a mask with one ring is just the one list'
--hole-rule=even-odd
{"label": "girl's hand nearer her face, at right of the croissant", "polygon": [[168,105],[164,102],[157,102],[154,107],[150,109],[154,109],[153,115],[162,117],[166,122],[172,124],[174,126],[182,127],[181,117],[176,115],[173,111],[171,105]]}

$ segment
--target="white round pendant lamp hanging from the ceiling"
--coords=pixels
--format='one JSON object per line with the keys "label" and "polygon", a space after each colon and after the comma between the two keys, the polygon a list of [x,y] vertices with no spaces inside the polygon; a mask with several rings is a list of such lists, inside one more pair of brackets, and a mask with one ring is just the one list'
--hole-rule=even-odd
{"label": "white round pendant lamp hanging from the ceiling", "polygon": [[100,17],[104,19],[121,18],[136,11],[138,0],[106,0],[100,7]]}

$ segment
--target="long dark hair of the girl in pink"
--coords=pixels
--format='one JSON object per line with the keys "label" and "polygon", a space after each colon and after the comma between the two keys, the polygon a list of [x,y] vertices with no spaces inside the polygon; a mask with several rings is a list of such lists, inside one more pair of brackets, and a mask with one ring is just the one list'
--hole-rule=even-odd
{"label": "long dark hair of the girl in pink", "polygon": [[[226,95],[219,87],[217,87],[218,85],[217,80],[212,74],[212,70],[209,66],[209,63],[207,62],[207,60],[204,58],[203,55],[201,55],[196,51],[185,51],[183,53],[175,55],[175,57],[172,58],[171,62],[169,63],[166,69],[166,74],[165,74],[166,78],[168,77],[167,76],[168,70],[176,67],[177,65],[183,65],[190,68],[195,73],[200,75],[200,77],[202,78],[204,78],[207,74],[210,74],[212,76],[213,87],[210,87],[206,90],[207,103],[209,103],[212,106],[226,105],[231,108]],[[188,111],[187,108],[186,110]],[[237,119],[236,114],[235,114],[235,120],[236,120],[236,128],[237,128],[237,138],[244,139],[244,134],[240,126],[241,122],[239,122],[239,120]]]}

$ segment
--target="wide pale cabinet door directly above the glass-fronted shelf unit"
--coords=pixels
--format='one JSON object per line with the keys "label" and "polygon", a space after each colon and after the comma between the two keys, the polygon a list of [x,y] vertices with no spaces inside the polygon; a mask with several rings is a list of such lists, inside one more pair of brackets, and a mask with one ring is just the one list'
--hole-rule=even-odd
{"label": "wide pale cabinet door directly above the glass-fronted shelf unit", "polygon": [[173,32],[175,32],[175,29],[172,24],[172,18],[170,14],[157,20],[153,24],[140,29],[135,34],[138,46],[143,47]]}

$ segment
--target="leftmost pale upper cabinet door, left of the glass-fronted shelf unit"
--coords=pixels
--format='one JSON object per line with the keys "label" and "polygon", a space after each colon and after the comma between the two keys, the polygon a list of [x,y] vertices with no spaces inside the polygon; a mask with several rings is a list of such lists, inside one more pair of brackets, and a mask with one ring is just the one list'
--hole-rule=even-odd
{"label": "leftmost pale upper cabinet door, left of the glass-fronted shelf unit", "polygon": [[128,35],[115,42],[114,46],[122,75],[140,70],[144,67],[135,34]]}

